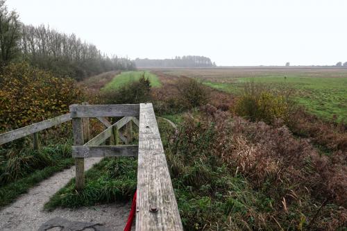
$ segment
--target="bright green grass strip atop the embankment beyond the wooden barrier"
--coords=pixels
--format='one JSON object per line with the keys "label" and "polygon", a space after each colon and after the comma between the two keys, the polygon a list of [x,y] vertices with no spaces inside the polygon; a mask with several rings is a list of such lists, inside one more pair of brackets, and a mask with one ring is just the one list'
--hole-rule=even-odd
{"label": "bright green grass strip atop the embankment beyond the wooden barrier", "polygon": [[151,74],[149,71],[126,71],[121,72],[121,74],[115,76],[115,78],[113,78],[110,83],[106,84],[105,87],[103,87],[101,90],[108,91],[110,89],[117,89],[122,85],[126,85],[127,83],[139,80],[143,73],[146,78],[149,78],[152,87],[161,86],[159,78],[155,76],[155,74]]}

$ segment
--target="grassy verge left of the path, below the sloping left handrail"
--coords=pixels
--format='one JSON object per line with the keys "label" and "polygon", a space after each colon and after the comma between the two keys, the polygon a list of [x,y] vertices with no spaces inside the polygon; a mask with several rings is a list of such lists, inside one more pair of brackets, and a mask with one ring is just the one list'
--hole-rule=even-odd
{"label": "grassy verge left of the path, below the sloping left handrail", "polygon": [[[13,153],[12,153],[13,152]],[[7,151],[0,166],[0,207],[10,204],[38,182],[74,164],[71,142],[49,145],[39,151]]]}

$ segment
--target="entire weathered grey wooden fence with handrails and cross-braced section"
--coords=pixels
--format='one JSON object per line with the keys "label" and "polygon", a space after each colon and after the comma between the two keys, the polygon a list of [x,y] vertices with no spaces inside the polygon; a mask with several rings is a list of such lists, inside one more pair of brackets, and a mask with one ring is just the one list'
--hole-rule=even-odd
{"label": "entire weathered grey wooden fence with handrails and cross-braced section", "polygon": [[[136,230],[183,230],[153,105],[83,103],[70,105],[69,109],[69,114],[0,134],[0,144],[34,134],[34,148],[38,148],[37,132],[72,119],[72,156],[76,160],[76,189],[82,190],[85,185],[84,158],[137,156]],[[90,139],[90,117],[99,119],[106,127],[93,139]],[[123,118],[111,124],[105,117]],[[129,139],[133,139],[132,123],[139,127],[138,145],[128,145]],[[124,126],[127,137],[119,131]],[[110,146],[100,145],[109,138]],[[119,139],[125,145],[118,145]]]}

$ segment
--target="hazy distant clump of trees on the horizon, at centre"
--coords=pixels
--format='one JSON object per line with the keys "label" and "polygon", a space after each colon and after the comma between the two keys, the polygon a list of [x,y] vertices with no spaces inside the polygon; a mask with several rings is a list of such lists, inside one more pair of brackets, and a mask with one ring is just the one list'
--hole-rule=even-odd
{"label": "hazy distant clump of trees on the horizon, at centre", "polygon": [[148,58],[137,58],[134,60],[137,67],[215,67],[210,58],[204,56],[187,55],[176,56],[172,59],[150,60]]}

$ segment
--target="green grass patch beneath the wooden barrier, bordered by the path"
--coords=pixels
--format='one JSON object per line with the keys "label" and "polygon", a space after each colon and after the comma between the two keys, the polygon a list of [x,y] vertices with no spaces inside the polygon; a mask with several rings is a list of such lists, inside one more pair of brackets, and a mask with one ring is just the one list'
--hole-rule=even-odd
{"label": "green grass patch beneath the wooden barrier, bordered by the path", "polygon": [[81,207],[116,200],[130,200],[135,193],[137,159],[133,157],[105,158],[85,173],[85,189],[74,189],[75,179],[60,189],[45,209]]}

